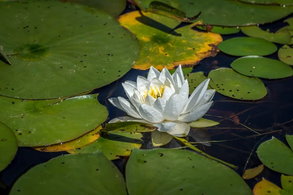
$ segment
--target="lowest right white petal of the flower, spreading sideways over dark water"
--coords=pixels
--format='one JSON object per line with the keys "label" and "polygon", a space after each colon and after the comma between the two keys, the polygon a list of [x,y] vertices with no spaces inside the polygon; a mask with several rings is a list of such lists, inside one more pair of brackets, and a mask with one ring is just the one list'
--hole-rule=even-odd
{"label": "lowest right white petal of the flower, spreading sideways over dark water", "polygon": [[208,112],[212,102],[213,101],[210,101],[202,106],[199,106],[191,113],[180,116],[179,120],[184,122],[192,122],[192,121],[198,120],[199,118],[203,117]]}

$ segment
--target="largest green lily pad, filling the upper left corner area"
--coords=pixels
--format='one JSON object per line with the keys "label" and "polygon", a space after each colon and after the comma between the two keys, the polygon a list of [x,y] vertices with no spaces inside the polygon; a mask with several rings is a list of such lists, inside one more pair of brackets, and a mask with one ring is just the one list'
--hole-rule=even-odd
{"label": "largest green lily pad, filling the upper left corner area", "polygon": [[113,17],[94,12],[57,0],[2,2],[0,43],[13,65],[0,61],[0,95],[67,97],[126,74],[139,55],[138,41]]}

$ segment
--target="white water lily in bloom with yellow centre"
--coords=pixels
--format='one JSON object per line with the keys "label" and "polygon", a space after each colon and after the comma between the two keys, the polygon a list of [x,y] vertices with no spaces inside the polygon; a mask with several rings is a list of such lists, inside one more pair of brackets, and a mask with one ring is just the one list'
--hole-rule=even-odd
{"label": "white water lily in bloom with yellow centre", "polygon": [[176,137],[188,135],[188,122],[198,120],[207,113],[215,94],[215,90],[207,90],[208,78],[188,98],[188,80],[184,79],[181,65],[172,75],[167,68],[160,73],[151,66],[147,78],[138,76],[136,82],[125,81],[122,85],[128,99],[118,97],[109,101],[129,117],[114,118],[109,123],[144,122]]}

